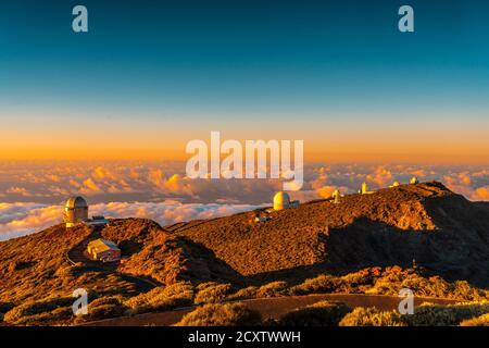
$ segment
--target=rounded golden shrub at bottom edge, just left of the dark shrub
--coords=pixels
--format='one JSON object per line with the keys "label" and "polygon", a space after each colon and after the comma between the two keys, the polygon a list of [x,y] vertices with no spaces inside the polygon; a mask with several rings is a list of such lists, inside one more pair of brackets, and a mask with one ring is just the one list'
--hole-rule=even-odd
{"label": "rounded golden shrub at bottom edge, just left of the dark shrub", "polygon": [[253,326],[261,323],[261,314],[243,303],[210,303],[186,314],[176,326]]}

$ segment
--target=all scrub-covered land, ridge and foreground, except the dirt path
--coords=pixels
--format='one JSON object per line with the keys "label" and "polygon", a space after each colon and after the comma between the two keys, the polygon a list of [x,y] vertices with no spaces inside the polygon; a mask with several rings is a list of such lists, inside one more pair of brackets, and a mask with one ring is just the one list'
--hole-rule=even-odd
{"label": "all scrub-covered land, ridge and foreground, except the dirt path", "polygon": [[[249,298],[397,296],[401,288],[410,288],[418,297],[479,304],[424,306],[409,320],[356,309],[341,322],[484,324],[481,303],[489,300],[484,289],[489,285],[488,212],[429,183],[348,196],[339,204],[314,201],[274,212],[271,221],[258,224],[250,222],[253,212],[249,212],[166,229],[141,219],[113,220],[97,233],[57,225],[0,244],[0,321],[61,325]],[[123,262],[70,258],[96,237],[117,243]],[[414,257],[419,268],[411,268]],[[89,290],[90,314],[84,318],[74,318],[71,311],[77,288]],[[229,322],[246,312],[242,307],[203,306],[192,320],[204,321],[211,309],[218,309]],[[323,324],[337,323],[336,310],[340,311],[317,304],[298,309],[284,321],[315,325],[324,318]]]}

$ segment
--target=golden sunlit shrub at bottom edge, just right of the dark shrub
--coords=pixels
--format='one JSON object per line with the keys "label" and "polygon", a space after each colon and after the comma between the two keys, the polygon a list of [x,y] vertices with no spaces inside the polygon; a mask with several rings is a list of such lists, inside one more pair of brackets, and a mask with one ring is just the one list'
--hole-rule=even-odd
{"label": "golden sunlit shrub at bottom edge, just right of the dark shrub", "polygon": [[355,308],[344,315],[339,326],[406,326],[397,311],[380,311],[375,307]]}

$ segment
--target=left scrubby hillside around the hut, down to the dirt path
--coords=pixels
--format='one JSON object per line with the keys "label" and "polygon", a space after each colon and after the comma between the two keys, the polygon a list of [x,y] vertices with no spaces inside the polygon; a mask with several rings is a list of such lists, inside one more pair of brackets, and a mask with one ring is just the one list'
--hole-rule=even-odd
{"label": "left scrubby hillside around the hut, down to the dirt path", "polygon": [[[80,252],[73,260],[73,250],[84,250],[87,240],[97,237],[118,243],[125,262],[78,260]],[[92,311],[75,322],[192,304],[193,286],[185,279],[229,277],[208,250],[168,235],[149,220],[114,220],[101,232],[55,225],[0,246],[0,321],[9,324],[74,322],[71,307],[60,303],[73,303],[77,288],[89,290]]]}

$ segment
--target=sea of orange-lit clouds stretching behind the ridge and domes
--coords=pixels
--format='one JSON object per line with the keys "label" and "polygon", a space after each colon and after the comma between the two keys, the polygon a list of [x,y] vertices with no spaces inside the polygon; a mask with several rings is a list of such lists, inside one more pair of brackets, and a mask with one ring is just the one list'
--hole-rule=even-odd
{"label": "sea of orange-lit clouds stretching behind the ridge and domes", "polygon": [[[441,181],[469,200],[489,200],[485,166],[408,164],[306,164],[304,186],[292,199],[354,192],[393,181]],[[149,217],[162,225],[228,215],[269,204],[276,179],[190,179],[184,162],[11,162],[0,164],[0,240],[59,223],[63,201],[83,195],[90,215]]]}

